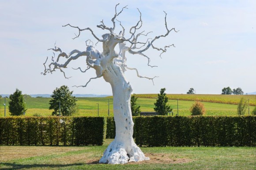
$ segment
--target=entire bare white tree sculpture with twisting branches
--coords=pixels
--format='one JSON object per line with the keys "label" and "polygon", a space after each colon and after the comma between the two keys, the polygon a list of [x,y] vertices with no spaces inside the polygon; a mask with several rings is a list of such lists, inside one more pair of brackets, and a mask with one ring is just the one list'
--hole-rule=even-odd
{"label": "entire bare white tree sculpture with twisting branches", "polygon": [[[157,47],[154,47],[153,45],[154,41],[158,40],[160,37],[166,37],[172,30],[177,32],[174,28],[173,29],[167,28],[166,12],[164,12],[166,34],[156,36],[154,37],[154,39],[151,39],[151,41],[150,39],[147,39],[147,42],[139,42],[138,41],[139,36],[147,36],[148,33],[147,34],[143,34],[143,32],[136,33],[142,26],[141,13],[138,9],[140,14],[139,21],[136,23],[135,26],[132,26],[130,28],[129,30],[130,36],[128,38],[125,38],[124,37],[125,29],[121,25],[121,22],[119,22],[116,18],[119,14],[122,13],[124,9],[127,9],[127,6],[123,7],[122,10],[117,12],[118,5],[119,4],[117,4],[115,7],[115,15],[111,20],[113,22],[113,27],[107,27],[104,24],[103,20],[101,21],[100,25],[97,25],[98,28],[107,30],[109,32],[102,35],[102,39],[98,38],[90,28],[80,29],[79,27],[72,26],[70,24],[64,25],[64,27],[70,26],[78,29],[79,33],[78,35],[75,36],[75,38],[78,38],[80,36],[80,33],[84,30],[90,31],[91,34],[94,36],[94,38],[98,40],[98,42],[102,42],[103,52],[96,50],[91,45],[87,45],[86,51],[73,50],[70,53],[65,53],[59,47],[55,46],[54,48],[51,48],[49,50],[59,52],[60,54],[57,56],[57,58],[55,58],[55,55],[54,55],[54,57],[52,57],[52,62],[46,68],[45,64],[48,59],[47,57],[44,63],[45,70],[44,72],[41,73],[43,75],[46,75],[47,73],[53,73],[54,71],[56,71],[56,69],[59,69],[60,72],[63,72],[64,77],[68,78],[66,77],[63,69],[67,68],[70,61],[75,60],[79,57],[86,56],[87,69],[85,69],[84,71],[80,67],[78,69],[81,72],[86,72],[88,69],[93,68],[95,69],[97,76],[90,78],[90,80],[103,77],[106,82],[110,83],[112,87],[112,92],[113,92],[113,110],[114,110],[114,119],[116,123],[116,137],[114,141],[110,143],[108,148],[105,150],[102,158],[99,161],[100,163],[109,163],[109,164],[120,164],[120,163],[149,160],[149,158],[146,157],[144,153],[140,150],[140,148],[135,144],[132,138],[133,125],[134,125],[132,121],[132,112],[131,112],[131,106],[130,106],[132,87],[130,83],[125,79],[124,72],[127,69],[130,69],[130,70],[136,70],[137,76],[139,76],[139,73],[137,69],[127,67],[125,53],[128,52],[130,54],[142,55],[143,57],[147,58],[148,60],[147,65],[151,66],[149,64],[150,58],[147,57],[147,55],[143,54],[143,52],[148,50],[150,47],[158,51],[161,51],[162,53],[166,52],[167,47],[171,47],[171,46],[174,47],[174,45],[172,44],[172,45],[165,46],[164,48],[157,48]],[[122,27],[122,31],[120,31],[119,34],[114,33],[116,28],[116,21],[118,21],[120,23],[120,26]],[[119,49],[120,49],[119,53],[117,53],[114,49],[117,44],[119,45]],[[160,57],[161,57],[161,54],[160,54]],[[67,59],[64,63],[60,63],[59,62],[60,57],[65,57]],[[154,66],[151,66],[151,67],[154,67]],[[147,78],[152,81],[155,78],[155,77],[149,78],[146,76],[139,76],[139,77]],[[87,84],[90,82],[90,80],[84,86],[76,86],[76,87],[86,87]]]}

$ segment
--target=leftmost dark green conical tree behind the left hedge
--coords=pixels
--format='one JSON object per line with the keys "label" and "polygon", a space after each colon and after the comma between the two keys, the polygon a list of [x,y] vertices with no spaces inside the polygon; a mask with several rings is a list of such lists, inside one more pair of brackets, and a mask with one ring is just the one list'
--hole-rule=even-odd
{"label": "leftmost dark green conical tree behind the left hedge", "polygon": [[16,91],[9,96],[10,101],[9,101],[9,112],[11,113],[11,116],[19,116],[23,115],[24,112],[26,112],[27,109],[25,102],[24,102],[24,97],[22,95],[22,91],[19,89],[16,89]]}

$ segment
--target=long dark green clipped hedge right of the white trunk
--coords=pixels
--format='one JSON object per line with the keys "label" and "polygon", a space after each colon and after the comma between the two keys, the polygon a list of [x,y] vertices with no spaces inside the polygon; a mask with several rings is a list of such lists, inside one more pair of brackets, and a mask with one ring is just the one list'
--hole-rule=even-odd
{"label": "long dark green clipped hedge right of the white trunk", "polygon": [[256,146],[256,116],[139,116],[134,129],[140,146]]}

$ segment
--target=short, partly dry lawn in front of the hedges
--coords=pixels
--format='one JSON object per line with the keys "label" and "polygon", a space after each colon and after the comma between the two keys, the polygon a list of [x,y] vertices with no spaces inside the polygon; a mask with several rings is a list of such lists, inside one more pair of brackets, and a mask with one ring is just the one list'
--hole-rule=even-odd
{"label": "short, partly dry lawn in front of the hedges", "polygon": [[0,169],[255,169],[252,147],[142,147],[150,161],[99,164],[103,146],[0,146]]}

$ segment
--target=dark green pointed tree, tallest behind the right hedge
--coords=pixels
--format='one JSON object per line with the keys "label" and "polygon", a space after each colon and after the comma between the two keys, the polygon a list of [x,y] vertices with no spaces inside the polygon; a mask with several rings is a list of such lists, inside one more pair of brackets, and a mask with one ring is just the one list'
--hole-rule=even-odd
{"label": "dark green pointed tree, tallest behind the right hedge", "polygon": [[166,88],[162,88],[160,90],[160,94],[158,94],[158,98],[154,103],[154,111],[158,113],[158,115],[167,115],[168,112],[171,112],[173,109],[169,105],[167,105],[168,98],[165,93]]}

